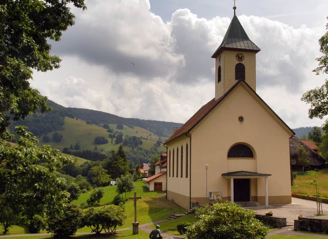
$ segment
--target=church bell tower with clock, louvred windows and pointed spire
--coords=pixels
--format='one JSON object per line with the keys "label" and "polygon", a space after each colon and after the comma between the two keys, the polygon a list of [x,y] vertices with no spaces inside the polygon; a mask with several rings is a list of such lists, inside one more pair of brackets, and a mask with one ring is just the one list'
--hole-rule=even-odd
{"label": "church bell tower with clock, louvred windows and pointed spire", "polygon": [[237,81],[247,82],[256,90],[256,53],[261,51],[247,36],[237,16],[230,23],[215,58],[215,100],[222,97]]}

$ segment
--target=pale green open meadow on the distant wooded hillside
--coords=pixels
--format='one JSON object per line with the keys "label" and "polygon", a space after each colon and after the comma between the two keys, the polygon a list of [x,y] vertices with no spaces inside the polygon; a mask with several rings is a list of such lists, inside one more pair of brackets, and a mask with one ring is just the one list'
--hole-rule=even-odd
{"label": "pale green open meadow on the distant wooded hillside", "polygon": [[[137,137],[145,137],[147,140],[142,140],[141,147],[144,149],[150,149],[156,140],[158,140],[158,136],[151,133],[146,129],[142,129],[140,127],[129,128],[128,126],[124,126],[123,130],[116,129],[115,124],[109,125],[111,129],[114,131],[122,132],[124,135],[131,135]],[[97,125],[87,125],[85,121],[76,120],[70,117],[65,117],[65,125],[64,130],[59,130],[58,133],[64,136],[63,140],[59,143],[50,142],[54,148],[63,150],[65,147],[70,147],[70,145],[75,145],[78,143],[81,146],[81,149],[90,149],[93,150],[96,146],[98,150],[104,150],[106,152],[117,150],[119,145],[115,144],[115,139],[113,143],[111,143],[111,139],[108,137],[108,132],[101,126]],[[93,140],[96,136],[104,136],[108,139],[108,144],[105,145],[95,145],[93,144]],[[42,138],[42,137],[41,137]],[[166,140],[166,138],[162,138],[162,140]],[[40,139],[40,144],[45,144],[42,139]],[[130,148],[125,148],[125,150],[130,150]],[[161,146],[158,150],[165,151],[165,147]]]}

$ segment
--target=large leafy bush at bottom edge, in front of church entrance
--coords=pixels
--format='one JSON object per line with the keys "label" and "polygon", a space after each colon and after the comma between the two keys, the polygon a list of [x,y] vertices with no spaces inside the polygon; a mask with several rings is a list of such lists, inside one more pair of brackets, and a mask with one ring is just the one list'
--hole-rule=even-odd
{"label": "large leafy bush at bottom edge, in front of church entrance", "polygon": [[269,228],[256,220],[253,210],[228,203],[215,203],[196,210],[196,222],[187,229],[192,238],[265,238]]}

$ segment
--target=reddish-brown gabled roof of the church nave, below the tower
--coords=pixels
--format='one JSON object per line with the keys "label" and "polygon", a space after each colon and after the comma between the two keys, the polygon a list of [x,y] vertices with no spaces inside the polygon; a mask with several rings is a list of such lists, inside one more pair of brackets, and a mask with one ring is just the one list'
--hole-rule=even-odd
{"label": "reddish-brown gabled roof of the church nave, below the tower", "polygon": [[222,95],[222,97],[218,98],[217,100],[212,99],[207,104],[203,105],[189,120],[181,126],[177,131],[175,131],[172,136],[165,142],[165,145],[167,145],[169,142],[173,141],[174,139],[177,139],[183,135],[188,134],[193,128],[195,128],[198,123],[200,123],[204,117],[206,117],[224,98],[226,98],[232,91],[235,89],[239,84],[244,83],[257,97],[258,99],[267,106],[275,115],[276,117],[285,125],[285,127],[290,130],[292,134],[295,134],[293,130],[286,125],[281,118],[270,108],[270,106],[267,105],[260,97],[259,95],[252,89],[247,82],[240,80],[238,81],[233,87],[231,87],[225,94]]}

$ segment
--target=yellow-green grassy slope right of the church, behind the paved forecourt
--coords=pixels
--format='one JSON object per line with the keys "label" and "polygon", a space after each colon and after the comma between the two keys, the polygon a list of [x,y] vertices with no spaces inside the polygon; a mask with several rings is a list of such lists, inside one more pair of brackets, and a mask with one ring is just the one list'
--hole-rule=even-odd
{"label": "yellow-green grassy slope right of the church, behind the paved forecourt", "polygon": [[328,198],[328,169],[316,171],[299,172],[292,187],[293,193],[312,195],[316,193],[314,185],[310,185],[309,181],[317,178],[320,186],[320,192],[323,197]]}

